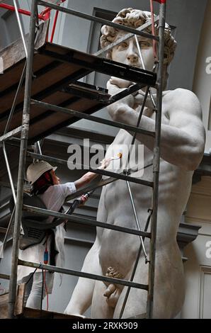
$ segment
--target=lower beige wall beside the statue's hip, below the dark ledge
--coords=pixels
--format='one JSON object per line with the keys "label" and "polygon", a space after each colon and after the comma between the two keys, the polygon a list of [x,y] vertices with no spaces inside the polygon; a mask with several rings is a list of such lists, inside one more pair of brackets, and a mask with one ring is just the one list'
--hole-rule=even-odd
{"label": "lower beige wall beside the statue's hip, below the dark ledge", "polygon": [[211,241],[211,177],[193,185],[186,222],[200,225],[199,235],[184,249],[186,262],[186,300],[182,318],[211,318],[211,258],[206,256],[207,242]]}

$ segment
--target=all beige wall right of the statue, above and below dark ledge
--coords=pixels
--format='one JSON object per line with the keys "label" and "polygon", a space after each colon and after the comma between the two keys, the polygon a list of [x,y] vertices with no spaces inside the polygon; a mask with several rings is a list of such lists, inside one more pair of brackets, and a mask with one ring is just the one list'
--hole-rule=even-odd
{"label": "all beige wall right of the statue, above and below dark ledge", "polygon": [[[205,19],[201,31],[198,58],[195,67],[193,91],[203,108],[203,123],[207,133],[205,152],[211,148],[211,73],[207,63],[211,57],[211,1],[207,1]],[[211,258],[207,256],[208,242],[211,241],[211,177],[203,176],[193,185],[186,222],[200,225],[199,235],[184,250],[188,257],[185,264],[186,300],[181,312],[182,318],[211,318]]]}

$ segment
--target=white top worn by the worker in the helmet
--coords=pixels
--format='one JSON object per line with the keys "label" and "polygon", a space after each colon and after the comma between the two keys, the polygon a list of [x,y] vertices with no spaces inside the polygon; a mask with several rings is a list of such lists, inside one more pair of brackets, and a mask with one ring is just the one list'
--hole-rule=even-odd
{"label": "white top worn by the worker in the helmet", "polygon": [[[47,188],[45,193],[40,194],[39,197],[45,203],[48,210],[54,210],[58,212],[59,209],[64,204],[65,198],[70,194],[76,192],[76,186],[74,183],[66,183],[53,185]],[[49,220],[53,220],[54,217],[50,216]],[[55,227],[55,247],[59,252],[56,256],[56,265],[59,267],[64,266],[64,223],[57,225]],[[33,261],[37,263],[43,263],[44,252],[45,252],[45,240],[43,239],[40,244],[28,247],[25,250],[19,250],[19,259],[25,261]],[[47,250],[50,255],[50,242],[47,242]],[[24,276],[28,276],[30,273],[35,271],[34,268],[27,266],[18,266],[18,281],[20,281]],[[37,270],[40,271],[40,270]],[[52,274],[53,276],[54,274]],[[48,286],[48,293],[51,292],[50,286]]]}

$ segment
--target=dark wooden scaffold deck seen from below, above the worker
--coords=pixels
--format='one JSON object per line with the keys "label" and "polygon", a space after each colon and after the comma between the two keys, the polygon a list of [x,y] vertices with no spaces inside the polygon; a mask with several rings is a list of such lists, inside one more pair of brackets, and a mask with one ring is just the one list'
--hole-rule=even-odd
{"label": "dark wooden scaffold deck seen from below, above the worker", "polygon": [[[143,86],[156,84],[156,74],[152,72],[119,64],[61,45],[46,43],[43,35],[45,35],[45,30],[41,34],[42,38],[37,38],[38,41],[35,45],[31,94],[33,99],[91,114],[107,105],[110,98],[106,89],[76,81],[91,72],[127,77],[127,80],[136,83],[142,82]],[[21,43],[22,41],[19,40],[0,52],[0,57],[4,60],[4,74],[0,75],[0,136],[4,134],[4,128],[25,64]],[[8,131],[21,125],[23,102],[24,85],[20,90]],[[32,105],[29,142],[40,140],[76,120],[79,119],[73,115]],[[20,136],[20,133],[18,135]]]}

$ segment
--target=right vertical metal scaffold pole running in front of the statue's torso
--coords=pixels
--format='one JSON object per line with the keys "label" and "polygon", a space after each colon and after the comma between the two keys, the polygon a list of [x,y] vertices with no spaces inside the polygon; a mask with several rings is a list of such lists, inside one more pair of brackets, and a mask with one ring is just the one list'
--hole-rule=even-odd
{"label": "right vertical metal scaffold pole running in front of the statue's torso", "polygon": [[154,305],[154,271],[156,254],[156,225],[157,210],[159,198],[159,164],[160,164],[160,140],[161,140],[161,111],[162,111],[162,92],[163,92],[163,63],[164,63],[164,29],[166,22],[166,0],[161,0],[159,11],[159,68],[157,80],[157,101],[156,101],[156,123],[155,123],[155,144],[154,144],[154,162],[153,162],[153,196],[152,196],[152,222],[151,239],[149,249],[149,291],[147,296],[147,318],[153,318]]}

